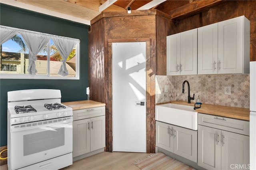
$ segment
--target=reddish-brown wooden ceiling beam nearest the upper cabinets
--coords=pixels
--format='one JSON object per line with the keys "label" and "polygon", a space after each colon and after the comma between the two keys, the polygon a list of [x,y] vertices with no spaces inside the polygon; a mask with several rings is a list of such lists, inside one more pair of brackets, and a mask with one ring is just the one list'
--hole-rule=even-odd
{"label": "reddish-brown wooden ceiling beam nearest the upper cabinets", "polygon": [[189,4],[176,8],[170,11],[170,16],[174,20],[179,20],[193,14],[197,14],[204,9],[217,5],[218,3],[223,2],[222,0],[196,0],[190,1]]}

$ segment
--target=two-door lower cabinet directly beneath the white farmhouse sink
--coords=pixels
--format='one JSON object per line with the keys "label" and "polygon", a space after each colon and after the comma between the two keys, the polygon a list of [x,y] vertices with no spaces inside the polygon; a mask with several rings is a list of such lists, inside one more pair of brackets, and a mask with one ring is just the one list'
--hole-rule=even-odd
{"label": "two-door lower cabinet directly beneath the white farmhouse sink", "polygon": [[197,162],[197,131],[156,121],[156,146]]}

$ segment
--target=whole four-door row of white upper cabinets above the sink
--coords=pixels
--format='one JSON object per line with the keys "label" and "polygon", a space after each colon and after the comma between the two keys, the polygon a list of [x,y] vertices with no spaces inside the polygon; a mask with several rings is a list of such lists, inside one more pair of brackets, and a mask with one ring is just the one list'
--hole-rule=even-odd
{"label": "whole four-door row of white upper cabinets above the sink", "polygon": [[250,73],[250,21],[244,16],[166,37],[166,75]]}

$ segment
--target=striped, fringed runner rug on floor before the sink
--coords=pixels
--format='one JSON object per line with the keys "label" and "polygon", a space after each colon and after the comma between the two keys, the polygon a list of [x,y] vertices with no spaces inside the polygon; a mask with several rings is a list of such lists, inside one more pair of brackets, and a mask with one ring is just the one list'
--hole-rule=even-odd
{"label": "striped, fringed runner rug on floor before the sink", "polygon": [[195,170],[191,166],[183,164],[161,152],[151,154],[148,158],[137,160],[133,164],[138,166],[141,170]]}

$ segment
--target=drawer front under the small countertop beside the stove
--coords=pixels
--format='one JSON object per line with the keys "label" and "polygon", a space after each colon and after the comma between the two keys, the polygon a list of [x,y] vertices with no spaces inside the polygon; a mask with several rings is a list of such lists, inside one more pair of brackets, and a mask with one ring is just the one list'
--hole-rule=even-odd
{"label": "drawer front under the small countertop beside the stove", "polygon": [[105,115],[105,106],[73,111],[73,121]]}

